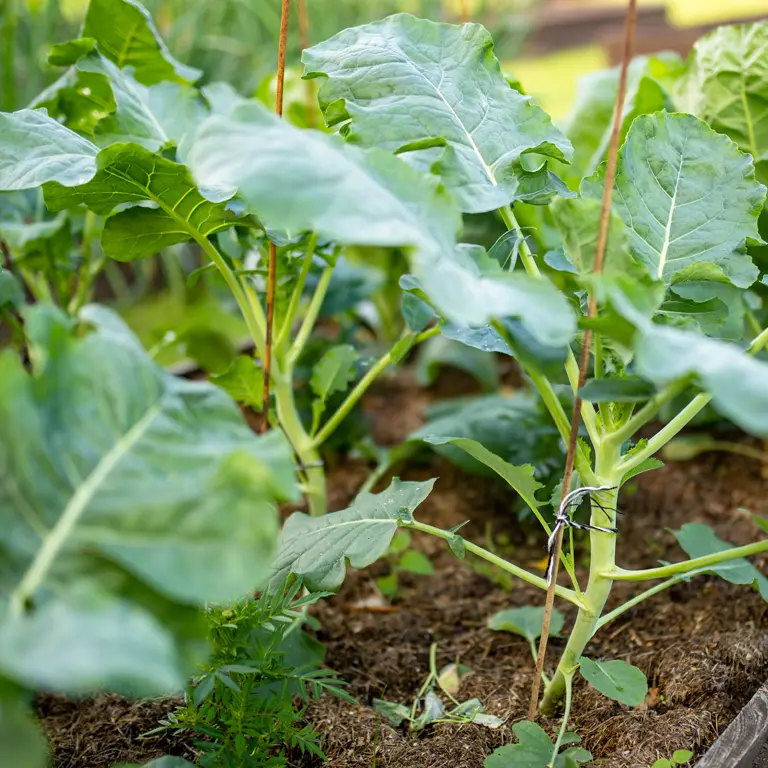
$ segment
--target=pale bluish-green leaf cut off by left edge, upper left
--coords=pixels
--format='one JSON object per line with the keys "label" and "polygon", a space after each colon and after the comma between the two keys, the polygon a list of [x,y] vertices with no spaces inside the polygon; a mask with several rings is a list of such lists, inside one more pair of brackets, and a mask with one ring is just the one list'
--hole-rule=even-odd
{"label": "pale bluish-green leaf cut off by left edge, upper left", "polygon": [[98,147],[44,110],[0,112],[0,190],[32,189],[48,181],[74,187],[96,172]]}

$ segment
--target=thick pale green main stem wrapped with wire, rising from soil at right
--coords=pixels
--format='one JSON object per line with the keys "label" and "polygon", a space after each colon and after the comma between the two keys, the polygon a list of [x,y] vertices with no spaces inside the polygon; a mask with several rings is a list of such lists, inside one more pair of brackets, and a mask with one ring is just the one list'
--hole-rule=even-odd
{"label": "thick pale green main stem wrapped with wire, rising from soil at right", "polygon": [[[593,503],[590,520],[592,525],[603,528],[615,525],[616,513],[612,510],[616,508],[618,498],[616,486],[621,479],[617,472],[618,460],[619,449],[617,447],[607,444],[601,446],[597,451],[595,474],[598,482],[601,485],[612,486],[612,489],[596,494],[596,497],[602,507],[611,511],[607,513],[608,517],[606,517],[606,512]],[[601,531],[590,531],[589,538],[591,561],[587,588],[581,595],[583,606],[579,608],[576,623],[568,637],[568,643],[560,658],[560,663],[557,665],[557,671],[544,691],[540,709],[546,715],[551,715],[562,699],[566,690],[568,675],[572,674],[573,669],[578,667],[579,658],[584,652],[584,648],[597,631],[600,615],[605,608],[613,584],[612,579],[605,574],[615,567],[616,536]]]}

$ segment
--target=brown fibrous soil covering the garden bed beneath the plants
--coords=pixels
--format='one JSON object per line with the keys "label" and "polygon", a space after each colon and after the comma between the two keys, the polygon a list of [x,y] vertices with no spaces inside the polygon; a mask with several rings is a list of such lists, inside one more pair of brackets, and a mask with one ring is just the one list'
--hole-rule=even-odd
{"label": "brown fibrous soil covering the garden bed beneath the plants", "polygon": [[[425,394],[409,377],[385,383],[366,403],[367,411],[380,416],[377,439],[400,439],[418,426],[435,394],[457,394],[453,389]],[[618,562],[638,568],[652,567],[660,559],[682,559],[684,553],[668,529],[685,522],[706,522],[721,538],[737,544],[754,540],[758,531],[738,508],[768,514],[761,470],[750,459],[709,454],[639,477],[621,499],[626,514],[620,522]],[[330,472],[332,509],[352,498],[365,472],[355,462]],[[406,479],[440,478],[417,511],[420,520],[448,528],[470,519],[463,533],[479,543],[492,525],[494,536],[509,537],[515,562],[534,570],[542,567],[543,538],[517,522],[513,496],[501,484],[462,475],[441,461],[402,474]],[[384,563],[362,573],[350,571],[339,595],[318,607],[328,665],[349,681],[350,693],[360,702],[353,706],[324,697],[307,712],[308,721],[324,735],[331,768],[481,768],[485,755],[511,740],[509,726],[525,717],[533,675],[528,645],[516,636],[489,631],[486,620],[505,607],[540,605],[542,594],[520,582],[505,591],[431,537],[417,537],[414,545],[430,556],[436,574],[404,577],[402,599],[387,611],[365,607],[369,598],[377,597],[374,579],[386,572]],[[584,547],[577,545],[577,550],[583,553]],[[609,607],[641,589],[618,584]],[[567,617],[567,633],[574,611],[568,603],[559,607]],[[643,706],[628,709],[577,682],[571,725],[596,764],[648,768],[675,749],[703,752],[768,677],[766,627],[768,605],[759,595],[709,576],[656,595],[605,627],[588,655],[630,661],[646,673],[651,691]],[[374,697],[412,702],[427,673],[433,642],[438,643],[439,665],[459,658],[473,669],[460,698],[480,698],[507,726],[498,731],[440,726],[413,737],[390,728],[370,708]],[[563,640],[552,640],[550,667],[563,645]],[[163,752],[188,754],[182,742],[168,737],[137,739],[164,716],[163,702],[129,704],[108,696],[76,704],[45,697],[39,710],[57,768],[101,768]],[[552,731],[557,721],[542,725]],[[295,764],[318,765],[298,757]]]}

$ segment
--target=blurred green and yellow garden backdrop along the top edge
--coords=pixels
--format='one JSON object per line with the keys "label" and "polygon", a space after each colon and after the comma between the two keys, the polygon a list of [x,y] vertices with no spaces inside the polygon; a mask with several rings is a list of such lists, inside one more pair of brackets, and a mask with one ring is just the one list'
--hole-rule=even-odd
{"label": "blurred green and yellow garden backdrop along the top edge", "polygon": [[[77,34],[86,4],[0,0],[3,109],[25,106],[57,76],[45,63],[46,52],[51,43]],[[174,54],[202,68],[207,80],[226,80],[249,94],[274,70],[280,0],[146,0],[145,5]],[[302,5],[308,22],[303,33]],[[289,61],[298,67],[302,43],[398,11],[453,22],[469,18],[491,31],[505,68],[558,118],[568,111],[578,77],[613,63],[611,48],[625,5],[625,0],[292,0]],[[684,53],[699,34],[695,28],[755,18],[768,11],[768,0],[640,0],[640,6],[641,52],[651,52],[647,49],[658,41],[659,47]]]}

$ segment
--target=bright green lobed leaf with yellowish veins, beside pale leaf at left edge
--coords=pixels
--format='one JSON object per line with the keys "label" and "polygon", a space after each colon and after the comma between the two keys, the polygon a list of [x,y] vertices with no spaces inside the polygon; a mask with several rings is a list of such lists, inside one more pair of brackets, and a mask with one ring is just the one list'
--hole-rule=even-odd
{"label": "bright green lobed leaf with yellowish veins, beside pale leaf at left edge", "polygon": [[106,215],[121,204],[151,202],[110,216],[102,231],[104,252],[119,261],[134,261],[161,248],[201,239],[231,226],[235,220],[223,204],[206,200],[186,167],[138,144],[113,144],[96,160],[97,172],[85,184],[65,188],[48,185],[45,200],[58,211],[83,204]]}

